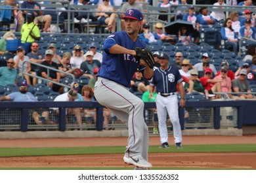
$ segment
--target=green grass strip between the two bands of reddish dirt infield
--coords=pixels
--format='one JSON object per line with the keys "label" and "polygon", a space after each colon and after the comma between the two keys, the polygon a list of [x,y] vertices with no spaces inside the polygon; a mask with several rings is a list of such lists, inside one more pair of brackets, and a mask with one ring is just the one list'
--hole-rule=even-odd
{"label": "green grass strip between the two bands of reddish dirt infield", "polygon": [[[78,154],[119,154],[124,146],[73,147],[73,148],[0,148],[0,158],[15,156],[60,156]],[[256,152],[256,144],[211,144],[185,145],[181,149],[174,146],[164,149],[150,146],[149,152]]]}

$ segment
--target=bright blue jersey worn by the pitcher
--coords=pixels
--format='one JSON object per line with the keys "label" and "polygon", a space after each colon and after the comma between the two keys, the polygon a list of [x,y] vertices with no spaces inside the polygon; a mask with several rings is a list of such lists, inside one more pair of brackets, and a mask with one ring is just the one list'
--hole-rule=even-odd
{"label": "bright blue jersey worn by the pitcher", "polygon": [[102,65],[97,76],[107,78],[129,88],[131,78],[133,78],[135,71],[139,68],[139,61],[130,54],[110,54],[109,50],[115,44],[119,44],[129,50],[134,50],[136,47],[145,48],[145,46],[139,39],[133,42],[125,31],[112,33],[103,42]]}

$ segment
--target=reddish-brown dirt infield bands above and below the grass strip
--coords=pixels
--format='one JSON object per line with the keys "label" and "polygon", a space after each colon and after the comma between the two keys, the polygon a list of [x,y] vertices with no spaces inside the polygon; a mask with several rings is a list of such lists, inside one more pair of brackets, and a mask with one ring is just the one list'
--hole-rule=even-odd
{"label": "reddish-brown dirt infield bands above and below the grass strip", "polygon": [[[185,136],[186,144],[255,144],[256,136]],[[173,142],[170,137],[169,142]],[[0,147],[85,147],[126,146],[127,137],[81,138],[81,139],[0,139]],[[150,137],[150,145],[159,145],[159,137]],[[149,161],[154,167],[188,167],[213,169],[256,169],[255,152],[230,153],[150,153]],[[97,161],[95,161],[97,159]],[[0,167],[131,167],[123,163],[123,154],[38,156],[0,158]]]}

